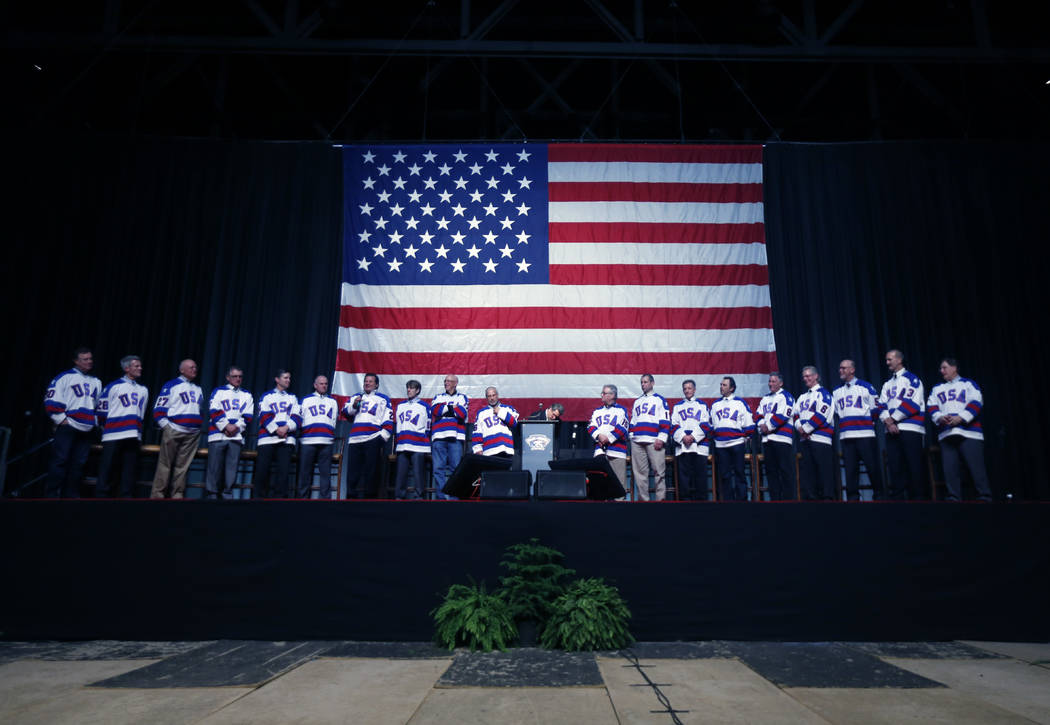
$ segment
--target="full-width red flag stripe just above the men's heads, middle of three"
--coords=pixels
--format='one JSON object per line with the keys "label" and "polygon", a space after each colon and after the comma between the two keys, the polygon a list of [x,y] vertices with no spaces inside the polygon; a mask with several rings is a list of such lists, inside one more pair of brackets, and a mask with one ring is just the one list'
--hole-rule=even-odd
{"label": "full-width red flag stripe just above the men's heads, middle of three", "polygon": [[339,350],[336,370],[386,375],[746,375],[776,370],[775,352],[362,352]]}

